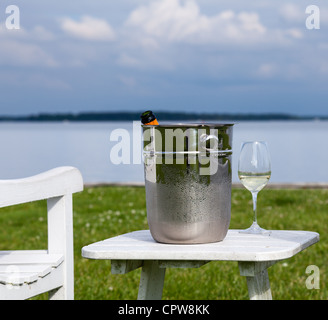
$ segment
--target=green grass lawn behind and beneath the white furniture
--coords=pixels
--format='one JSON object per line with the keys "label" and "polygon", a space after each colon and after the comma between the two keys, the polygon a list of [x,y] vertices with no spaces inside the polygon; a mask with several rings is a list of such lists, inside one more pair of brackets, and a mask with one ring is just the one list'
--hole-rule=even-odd
{"label": "green grass lawn behind and beneath the white furniture", "polygon": [[[269,269],[274,299],[328,298],[327,213],[327,189],[264,189],[259,193],[262,227],[320,233],[319,243]],[[250,193],[233,189],[230,228],[244,229],[251,221]],[[45,201],[1,209],[0,225],[0,250],[47,247]],[[81,248],[141,229],[148,229],[144,188],[90,187],[74,195],[75,299],[136,299],[140,269],[111,275],[110,261],[84,259]],[[306,288],[309,265],[320,269],[320,289]],[[236,262],[211,262],[196,269],[168,269],[163,299],[248,299],[248,293]]]}

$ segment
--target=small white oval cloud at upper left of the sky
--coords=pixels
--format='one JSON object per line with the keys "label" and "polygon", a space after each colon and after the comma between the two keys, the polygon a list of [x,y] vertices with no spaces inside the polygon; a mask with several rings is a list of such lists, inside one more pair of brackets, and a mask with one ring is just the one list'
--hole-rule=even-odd
{"label": "small white oval cloud at upper left of the sky", "polygon": [[80,21],[63,18],[60,26],[62,30],[76,38],[93,41],[112,41],[115,32],[106,20],[83,16]]}

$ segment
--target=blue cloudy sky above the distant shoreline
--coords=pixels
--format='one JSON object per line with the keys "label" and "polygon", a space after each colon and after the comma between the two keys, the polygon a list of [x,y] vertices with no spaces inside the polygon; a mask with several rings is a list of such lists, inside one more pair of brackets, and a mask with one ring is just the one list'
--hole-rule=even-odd
{"label": "blue cloudy sky above the distant shoreline", "polygon": [[0,0],[0,115],[327,116],[327,84],[325,0]]}

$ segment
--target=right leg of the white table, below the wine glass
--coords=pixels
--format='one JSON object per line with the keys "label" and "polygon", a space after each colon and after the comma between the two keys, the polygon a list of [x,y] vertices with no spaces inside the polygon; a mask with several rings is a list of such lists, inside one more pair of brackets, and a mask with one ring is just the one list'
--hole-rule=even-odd
{"label": "right leg of the white table, below the wine glass", "polygon": [[275,261],[238,262],[240,274],[246,277],[248,294],[251,300],[272,300],[267,269],[274,263]]}

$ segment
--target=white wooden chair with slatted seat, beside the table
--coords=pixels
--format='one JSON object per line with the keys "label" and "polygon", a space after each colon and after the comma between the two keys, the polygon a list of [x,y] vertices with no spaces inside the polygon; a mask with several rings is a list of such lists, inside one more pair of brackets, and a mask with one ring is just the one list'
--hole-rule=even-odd
{"label": "white wooden chair with slatted seat, beside the table", "polygon": [[73,167],[0,180],[0,208],[47,199],[48,211],[48,250],[0,251],[1,300],[43,292],[49,299],[74,299],[72,194],[82,190],[81,173]]}

